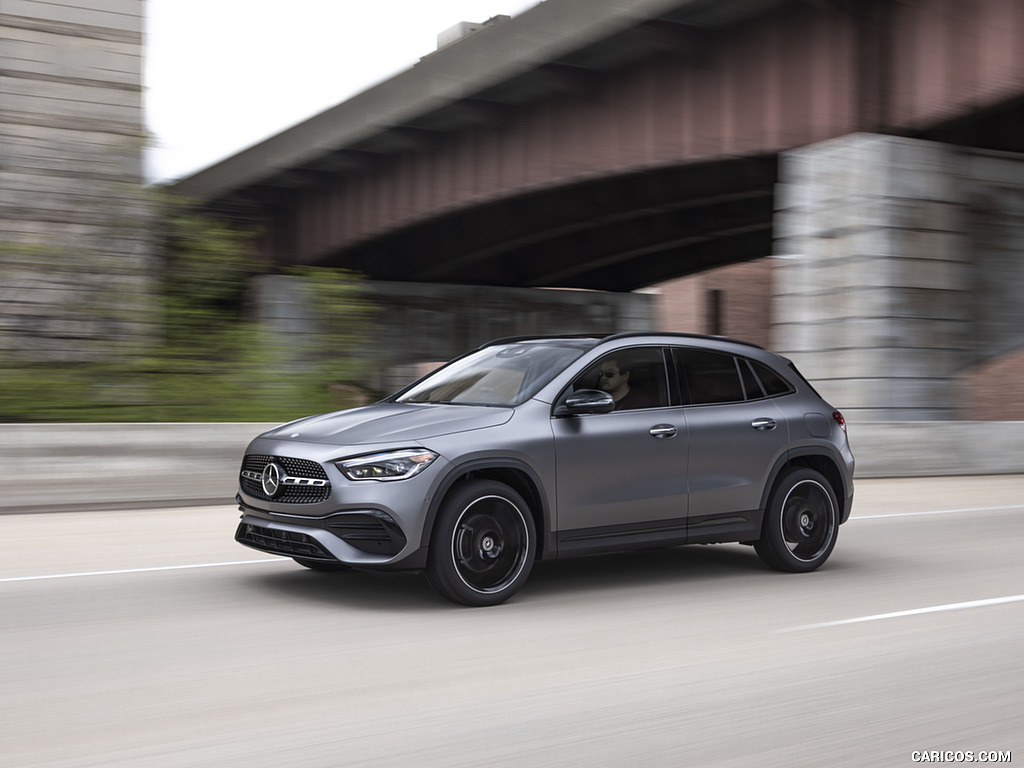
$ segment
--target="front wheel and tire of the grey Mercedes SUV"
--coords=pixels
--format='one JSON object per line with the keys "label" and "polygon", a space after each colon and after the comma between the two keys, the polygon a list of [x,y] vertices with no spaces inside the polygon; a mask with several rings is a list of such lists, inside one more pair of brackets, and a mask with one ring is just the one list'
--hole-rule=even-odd
{"label": "front wheel and tire of the grey Mercedes SUV", "polygon": [[529,508],[494,480],[456,485],[441,503],[430,539],[427,580],[463,605],[498,605],[519,591],[537,555]]}

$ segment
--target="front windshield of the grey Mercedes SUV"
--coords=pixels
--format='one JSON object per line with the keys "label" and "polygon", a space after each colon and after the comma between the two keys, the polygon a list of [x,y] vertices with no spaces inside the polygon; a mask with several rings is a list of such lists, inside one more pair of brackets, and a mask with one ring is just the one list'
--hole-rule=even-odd
{"label": "front windshield of the grey Mercedes SUV", "polygon": [[484,347],[430,374],[394,399],[518,406],[594,343],[593,339],[558,339]]}

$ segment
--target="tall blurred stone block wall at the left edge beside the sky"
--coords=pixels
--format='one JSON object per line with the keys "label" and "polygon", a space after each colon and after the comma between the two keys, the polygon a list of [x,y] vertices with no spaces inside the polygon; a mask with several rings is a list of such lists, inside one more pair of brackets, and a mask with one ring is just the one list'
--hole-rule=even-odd
{"label": "tall blurred stone block wall at the left edge beside the sky", "polygon": [[142,0],[0,5],[0,354],[145,338]]}

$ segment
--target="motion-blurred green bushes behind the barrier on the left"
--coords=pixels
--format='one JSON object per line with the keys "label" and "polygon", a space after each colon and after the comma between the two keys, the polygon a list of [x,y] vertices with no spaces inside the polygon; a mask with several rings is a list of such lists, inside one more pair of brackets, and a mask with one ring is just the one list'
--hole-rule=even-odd
{"label": "motion-blurred green bushes behind the barrier on the left", "polygon": [[[85,245],[69,254],[0,244],[0,283],[55,282],[62,296],[81,296],[42,321],[67,328],[59,349],[5,354],[0,421],[279,422],[370,396],[352,386],[362,373],[356,331],[373,315],[357,275],[292,272],[315,330],[285,338],[251,316],[267,270],[252,233],[166,199],[155,208],[147,231],[160,253],[121,274]],[[39,319],[23,323],[30,338]]]}

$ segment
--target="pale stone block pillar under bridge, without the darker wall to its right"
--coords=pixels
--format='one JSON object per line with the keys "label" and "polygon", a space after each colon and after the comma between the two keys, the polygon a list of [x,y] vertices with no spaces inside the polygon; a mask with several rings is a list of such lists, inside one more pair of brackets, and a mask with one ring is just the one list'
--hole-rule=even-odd
{"label": "pale stone block pillar under bridge, without the darker wall to its right", "polygon": [[771,346],[849,417],[957,418],[973,361],[964,157],[853,134],[781,159]]}

